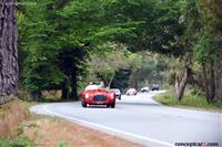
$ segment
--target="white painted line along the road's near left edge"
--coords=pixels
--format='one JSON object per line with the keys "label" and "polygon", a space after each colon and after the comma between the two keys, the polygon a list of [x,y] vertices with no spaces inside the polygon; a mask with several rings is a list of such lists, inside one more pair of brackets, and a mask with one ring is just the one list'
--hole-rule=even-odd
{"label": "white painted line along the road's near left edge", "polygon": [[157,144],[174,147],[174,145],[172,145],[170,143],[167,143],[167,141],[161,141],[161,140],[158,140],[158,139],[153,139],[153,138],[149,138],[149,137],[140,136],[140,135],[134,135],[134,134],[127,133],[127,132],[123,132],[123,130],[119,130],[119,129],[115,129],[115,128],[107,127],[107,126],[103,126],[103,125],[99,125],[99,124],[90,123],[90,122],[82,120],[82,119],[79,119],[79,118],[65,116],[65,115],[62,115],[62,114],[59,114],[59,113],[54,113],[54,112],[48,109],[48,105],[44,105],[43,109],[49,114],[52,114],[52,115],[56,115],[56,116],[60,116],[60,117],[63,117],[63,118],[68,118],[68,119],[72,119],[74,122],[79,122],[79,123],[83,123],[83,124],[87,124],[87,125],[95,126],[95,127],[99,127],[99,128],[111,130],[113,133],[123,134],[123,135],[131,136],[131,137],[134,137],[134,138],[139,138],[139,139],[143,139],[143,140],[153,141],[153,143],[157,143]]}

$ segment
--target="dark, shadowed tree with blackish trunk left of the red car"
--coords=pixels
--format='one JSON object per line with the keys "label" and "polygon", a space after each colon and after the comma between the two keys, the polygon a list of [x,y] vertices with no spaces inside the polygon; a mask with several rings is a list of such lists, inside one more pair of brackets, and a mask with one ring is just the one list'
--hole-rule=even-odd
{"label": "dark, shadowed tree with blackish trunk left of the red car", "polygon": [[[84,73],[85,56],[88,54],[85,46],[77,46],[74,44],[68,45],[67,43],[58,53],[58,65],[61,72],[65,75],[62,82],[62,98],[68,97],[78,99],[78,81],[79,76]],[[69,86],[71,92],[69,95]]]}

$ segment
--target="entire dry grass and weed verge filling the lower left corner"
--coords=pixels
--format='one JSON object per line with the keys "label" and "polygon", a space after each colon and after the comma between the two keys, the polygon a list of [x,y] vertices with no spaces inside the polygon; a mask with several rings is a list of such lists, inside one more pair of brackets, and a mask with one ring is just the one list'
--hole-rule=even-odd
{"label": "entire dry grass and weed verge filling the lower left corner", "polygon": [[29,112],[33,103],[12,101],[0,107],[0,147],[142,147],[115,136]]}

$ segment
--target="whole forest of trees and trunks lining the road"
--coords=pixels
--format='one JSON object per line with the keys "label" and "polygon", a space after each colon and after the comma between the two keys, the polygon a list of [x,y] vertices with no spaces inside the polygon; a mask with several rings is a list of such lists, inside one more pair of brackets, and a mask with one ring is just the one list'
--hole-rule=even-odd
{"label": "whole forest of trees and trunks lining the road", "polygon": [[[9,3],[11,2],[11,3]],[[0,97],[79,98],[89,82],[222,104],[221,0],[0,0]],[[165,86],[164,86],[165,85]],[[27,96],[27,97],[26,97]]]}

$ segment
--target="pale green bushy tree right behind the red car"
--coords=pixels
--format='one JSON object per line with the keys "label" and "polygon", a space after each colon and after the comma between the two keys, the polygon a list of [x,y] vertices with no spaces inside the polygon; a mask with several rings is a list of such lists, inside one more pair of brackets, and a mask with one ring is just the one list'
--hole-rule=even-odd
{"label": "pale green bushy tree right behind the red car", "polygon": [[103,53],[94,54],[89,61],[90,72],[110,87],[117,73],[121,70],[134,71],[141,66],[141,56],[131,53],[123,44],[108,42],[98,46]]}

